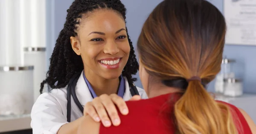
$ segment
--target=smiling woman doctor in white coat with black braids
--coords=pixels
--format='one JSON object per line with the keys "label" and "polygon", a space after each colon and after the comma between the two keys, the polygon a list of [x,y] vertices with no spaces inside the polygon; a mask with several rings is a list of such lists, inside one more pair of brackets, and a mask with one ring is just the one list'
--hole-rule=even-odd
{"label": "smiling woman doctor in white coat with black braids", "polygon": [[114,104],[128,114],[124,100],[133,95],[147,98],[133,84],[139,66],[121,1],[75,0],[67,12],[41,83],[40,91],[44,84],[51,91],[41,94],[32,108],[35,134],[75,134],[83,114],[105,126],[118,126]]}

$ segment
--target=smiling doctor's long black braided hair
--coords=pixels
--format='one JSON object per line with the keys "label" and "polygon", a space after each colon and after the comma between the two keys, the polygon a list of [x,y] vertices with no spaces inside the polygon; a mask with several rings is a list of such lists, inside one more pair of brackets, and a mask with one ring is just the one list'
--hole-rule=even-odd
{"label": "smiling doctor's long black braided hair", "polygon": [[[66,22],[56,40],[50,58],[49,70],[47,71],[46,79],[41,83],[40,93],[43,91],[44,84],[48,84],[50,90],[66,87],[70,78],[75,73],[81,72],[84,69],[81,56],[78,56],[72,49],[70,36],[77,36],[76,29],[77,25],[79,25],[79,21],[77,20],[82,17],[82,14],[98,8],[111,9],[122,15],[124,20],[126,19],[126,8],[120,0],[75,0],[67,10]],[[128,33],[127,38],[131,50],[122,75],[131,83],[137,80],[136,78],[132,78],[132,75],[137,73],[139,64]]]}

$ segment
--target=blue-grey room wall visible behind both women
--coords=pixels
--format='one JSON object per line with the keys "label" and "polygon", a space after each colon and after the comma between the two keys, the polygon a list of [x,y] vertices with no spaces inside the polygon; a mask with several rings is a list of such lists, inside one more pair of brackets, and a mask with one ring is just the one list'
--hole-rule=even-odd
{"label": "blue-grey room wall visible behind both women", "polygon": [[[63,28],[67,8],[73,0],[55,0],[55,39]],[[121,0],[127,8],[127,27],[131,40],[137,49],[137,39],[140,34],[143,22],[148,14],[162,0]],[[221,12],[223,11],[223,0],[208,0],[214,4]],[[52,52],[54,45],[49,46],[48,57]],[[136,51],[137,52],[137,51]],[[226,45],[224,55],[227,58],[236,59],[238,66],[235,66],[234,72],[243,75],[244,92],[256,93],[256,47],[244,45]],[[139,75],[136,77],[138,81],[135,83],[138,87],[142,87]],[[214,91],[214,82],[209,84],[208,90]]]}

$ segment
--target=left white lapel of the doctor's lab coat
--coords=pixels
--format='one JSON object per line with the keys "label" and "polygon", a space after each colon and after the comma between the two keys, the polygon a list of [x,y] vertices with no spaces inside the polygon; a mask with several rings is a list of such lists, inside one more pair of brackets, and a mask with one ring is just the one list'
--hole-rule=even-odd
{"label": "left white lapel of the doctor's lab coat", "polygon": [[84,71],[82,71],[76,84],[76,96],[82,106],[84,106],[87,102],[90,102],[93,100],[93,97],[90,94],[88,86],[84,81],[83,73]]}

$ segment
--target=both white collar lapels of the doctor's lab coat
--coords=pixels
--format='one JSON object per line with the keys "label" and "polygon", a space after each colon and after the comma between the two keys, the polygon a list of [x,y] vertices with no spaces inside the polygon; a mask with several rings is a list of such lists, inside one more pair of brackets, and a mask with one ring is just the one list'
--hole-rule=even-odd
{"label": "both white collar lapels of the doctor's lab coat", "polygon": [[[123,77],[123,78],[125,79],[125,94],[124,94],[123,99],[130,100],[131,93],[130,93],[129,83],[128,83],[126,77]],[[82,106],[84,106],[87,102],[90,102],[93,100],[93,97],[90,94],[88,86],[84,81],[83,72],[81,73],[81,75],[76,83],[76,96]]]}

